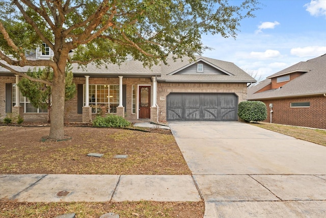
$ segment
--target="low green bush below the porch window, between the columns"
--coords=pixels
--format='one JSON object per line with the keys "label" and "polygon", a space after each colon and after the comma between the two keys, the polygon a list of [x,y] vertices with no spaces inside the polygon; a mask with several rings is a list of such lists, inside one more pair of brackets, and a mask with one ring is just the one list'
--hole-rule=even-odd
{"label": "low green bush below the porch window, between the columns", "polygon": [[96,116],[93,121],[94,127],[127,127],[130,123],[122,116],[108,114],[105,117]]}

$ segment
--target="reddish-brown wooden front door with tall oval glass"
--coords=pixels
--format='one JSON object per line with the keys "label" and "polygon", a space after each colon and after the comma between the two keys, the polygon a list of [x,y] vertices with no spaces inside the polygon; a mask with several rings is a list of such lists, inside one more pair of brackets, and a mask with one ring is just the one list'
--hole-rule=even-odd
{"label": "reddish-brown wooden front door with tall oval glass", "polygon": [[149,119],[151,116],[151,87],[139,87],[139,118]]}

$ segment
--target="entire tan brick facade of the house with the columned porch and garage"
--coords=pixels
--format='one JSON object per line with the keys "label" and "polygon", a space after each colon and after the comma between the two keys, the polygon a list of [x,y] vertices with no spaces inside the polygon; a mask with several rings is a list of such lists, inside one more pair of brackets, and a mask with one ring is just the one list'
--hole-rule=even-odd
{"label": "entire tan brick facade of the house with the columned porch and garage", "polygon": [[[0,118],[6,116],[6,83],[15,83],[15,76],[0,77]],[[85,84],[85,77],[74,78],[76,87],[78,84]],[[118,85],[119,78],[89,78],[89,84],[112,84]],[[125,118],[127,120],[137,120],[137,112],[132,113],[132,85],[136,87],[136,96],[138,100],[138,86],[149,85],[152,86],[151,78],[123,78],[122,84],[126,86],[126,108]],[[79,86],[80,87],[80,86]],[[238,103],[247,100],[247,86],[246,83],[157,83],[157,106],[151,108],[151,121],[152,122],[166,122],[166,100],[167,95],[171,92],[202,92],[202,93],[235,93],[238,96]],[[76,91],[78,93],[78,90]],[[82,122],[83,114],[78,113],[77,108],[78,96],[66,101],[65,103],[65,122]],[[135,103],[138,105],[138,102]],[[95,114],[92,114],[93,118]],[[47,115],[44,113],[24,113],[24,120],[42,120],[46,121]],[[85,117],[84,117],[85,119]],[[87,117],[89,120],[90,118]]]}

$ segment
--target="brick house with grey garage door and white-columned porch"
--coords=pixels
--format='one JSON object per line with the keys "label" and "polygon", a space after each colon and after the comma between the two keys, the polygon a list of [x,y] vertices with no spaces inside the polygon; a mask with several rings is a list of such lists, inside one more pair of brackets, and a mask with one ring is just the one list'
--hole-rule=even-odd
{"label": "brick house with grey garage door and white-columned porch", "polygon": [[[28,68],[15,67],[23,72]],[[192,63],[170,59],[168,65],[151,69],[129,59],[120,66],[89,64],[86,70],[73,65],[72,71],[77,91],[66,101],[65,122],[88,123],[96,115],[93,107],[103,105],[107,113],[130,121],[237,120],[237,105],[247,100],[247,83],[255,82],[233,63],[200,56]],[[24,120],[46,120],[46,111],[19,95],[17,81],[19,76],[0,68],[0,118],[12,112]]]}

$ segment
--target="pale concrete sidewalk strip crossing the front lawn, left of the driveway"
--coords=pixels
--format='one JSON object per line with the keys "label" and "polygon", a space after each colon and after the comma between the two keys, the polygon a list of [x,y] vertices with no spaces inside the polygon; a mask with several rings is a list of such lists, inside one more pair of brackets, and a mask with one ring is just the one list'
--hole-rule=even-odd
{"label": "pale concrete sidewalk strip crossing the front lawn, left of the driveway", "polygon": [[0,199],[18,202],[201,201],[190,175],[0,175]]}

